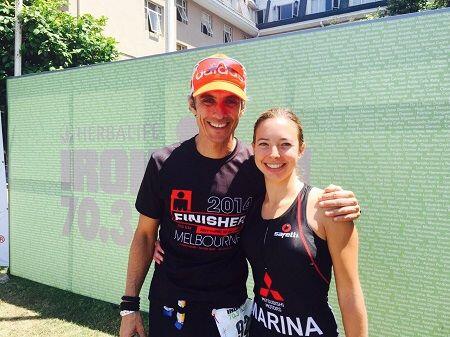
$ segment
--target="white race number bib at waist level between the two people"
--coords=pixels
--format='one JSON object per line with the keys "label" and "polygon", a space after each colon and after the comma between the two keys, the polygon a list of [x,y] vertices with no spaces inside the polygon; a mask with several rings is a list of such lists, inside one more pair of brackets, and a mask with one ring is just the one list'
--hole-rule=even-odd
{"label": "white race number bib at waist level between the two people", "polygon": [[253,300],[247,300],[237,308],[214,309],[214,316],[220,337],[246,337],[250,328]]}

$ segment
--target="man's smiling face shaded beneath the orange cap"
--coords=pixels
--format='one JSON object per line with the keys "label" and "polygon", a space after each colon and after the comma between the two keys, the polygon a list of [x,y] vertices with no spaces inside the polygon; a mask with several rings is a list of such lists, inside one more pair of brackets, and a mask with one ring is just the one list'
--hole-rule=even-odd
{"label": "man's smiling face shaded beneath the orange cap", "polygon": [[212,90],[194,98],[199,141],[227,144],[242,114],[242,100],[223,90]]}

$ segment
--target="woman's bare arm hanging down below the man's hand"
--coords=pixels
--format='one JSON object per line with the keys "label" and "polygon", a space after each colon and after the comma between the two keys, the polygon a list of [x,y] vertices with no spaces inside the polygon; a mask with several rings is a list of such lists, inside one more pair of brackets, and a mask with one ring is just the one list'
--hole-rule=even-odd
{"label": "woman's bare arm hanging down below the man's hand", "polygon": [[353,222],[333,222],[320,216],[328,249],[346,337],[367,337],[368,323],[358,275],[358,232]]}

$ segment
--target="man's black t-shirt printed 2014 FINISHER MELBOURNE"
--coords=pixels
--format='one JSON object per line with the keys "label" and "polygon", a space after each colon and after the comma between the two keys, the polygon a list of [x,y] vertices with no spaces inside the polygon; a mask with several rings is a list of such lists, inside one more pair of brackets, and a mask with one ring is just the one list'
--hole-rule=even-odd
{"label": "man's black t-shirt printed 2014 FINISHER MELBOURNE", "polygon": [[141,214],[160,220],[165,252],[150,298],[242,304],[248,270],[240,232],[263,193],[262,174],[240,141],[221,159],[202,156],[194,138],[155,151],[136,200]]}

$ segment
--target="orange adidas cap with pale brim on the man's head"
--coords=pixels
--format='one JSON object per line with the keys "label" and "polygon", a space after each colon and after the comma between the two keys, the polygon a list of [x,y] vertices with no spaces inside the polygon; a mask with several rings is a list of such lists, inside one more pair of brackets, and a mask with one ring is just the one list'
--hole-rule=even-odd
{"label": "orange adidas cap with pale brim on the man's head", "polygon": [[225,90],[246,101],[246,83],[247,74],[239,61],[224,54],[215,54],[195,65],[191,94],[196,97],[211,90]]}

